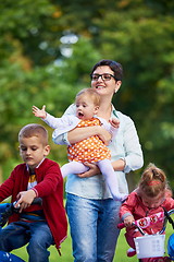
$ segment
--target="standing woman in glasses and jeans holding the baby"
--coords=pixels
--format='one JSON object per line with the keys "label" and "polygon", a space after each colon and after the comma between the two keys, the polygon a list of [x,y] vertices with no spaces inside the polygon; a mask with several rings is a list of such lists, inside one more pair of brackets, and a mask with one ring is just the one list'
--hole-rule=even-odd
{"label": "standing woman in glasses and jeans holding the baby", "polygon": [[[120,128],[116,138],[110,143],[112,166],[119,180],[121,193],[128,193],[125,174],[140,168],[144,164],[141,146],[133,120],[115,110],[112,97],[122,84],[122,66],[112,60],[101,60],[91,70],[91,87],[101,97],[97,116],[117,117]],[[75,115],[75,105],[65,114]],[[90,135],[99,135],[105,144],[111,136],[102,127],[76,128],[54,138],[57,144],[74,144]],[[116,228],[120,201],[114,201],[109,188],[94,164],[86,164],[89,171],[70,175],[66,182],[66,211],[73,241],[75,262],[111,262],[119,237]]]}

